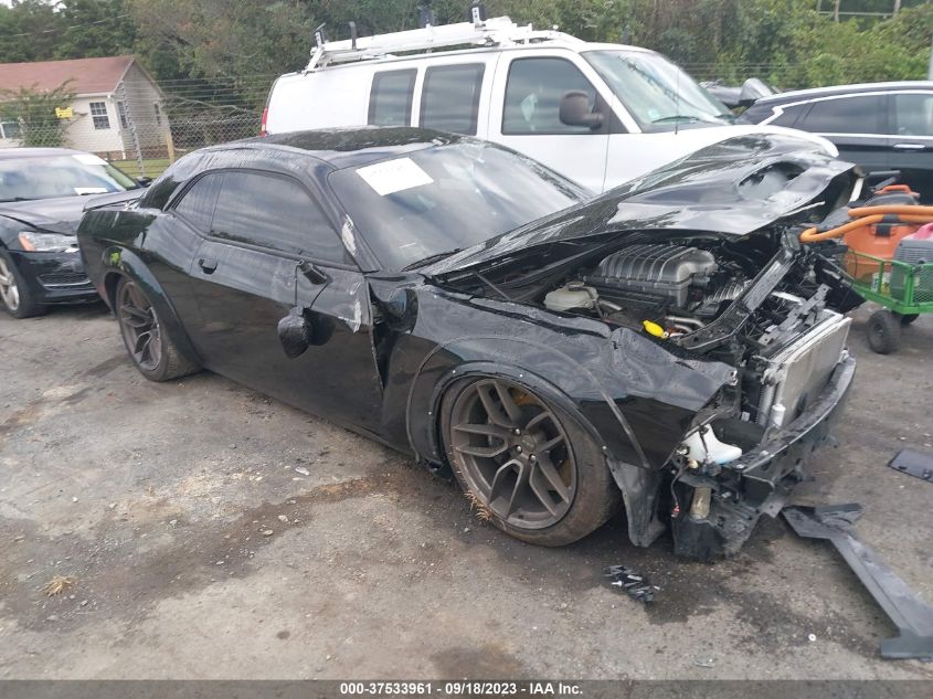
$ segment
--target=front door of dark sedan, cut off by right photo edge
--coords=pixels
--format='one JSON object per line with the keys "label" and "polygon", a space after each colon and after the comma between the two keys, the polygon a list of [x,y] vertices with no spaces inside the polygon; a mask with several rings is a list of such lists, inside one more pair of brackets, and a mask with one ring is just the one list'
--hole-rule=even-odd
{"label": "front door of dark sedan, cut off by right photo edge", "polygon": [[933,92],[894,93],[890,100],[891,168],[933,201]]}

